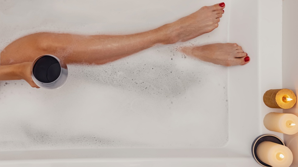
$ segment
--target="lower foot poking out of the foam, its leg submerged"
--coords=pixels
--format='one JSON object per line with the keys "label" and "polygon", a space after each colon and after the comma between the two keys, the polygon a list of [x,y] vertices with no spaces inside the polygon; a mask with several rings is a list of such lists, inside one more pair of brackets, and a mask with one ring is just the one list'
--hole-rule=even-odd
{"label": "lower foot poking out of the foam, its leg submerged", "polygon": [[186,55],[191,55],[206,62],[218,65],[232,66],[245,65],[250,61],[242,47],[235,43],[217,43],[198,47],[181,49]]}

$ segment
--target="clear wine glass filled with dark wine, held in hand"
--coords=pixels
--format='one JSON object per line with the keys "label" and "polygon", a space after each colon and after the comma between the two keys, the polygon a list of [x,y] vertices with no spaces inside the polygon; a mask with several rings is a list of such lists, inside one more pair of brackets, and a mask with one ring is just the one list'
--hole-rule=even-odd
{"label": "clear wine glass filled with dark wine, held in hand", "polygon": [[66,84],[67,65],[54,55],[42,55],[34,60],[31,77],[37,86],[45,89],[59,89]]}

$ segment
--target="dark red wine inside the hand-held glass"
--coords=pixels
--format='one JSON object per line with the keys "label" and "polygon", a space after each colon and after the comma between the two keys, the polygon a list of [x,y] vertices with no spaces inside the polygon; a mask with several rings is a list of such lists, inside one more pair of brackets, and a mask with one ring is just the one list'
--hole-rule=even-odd
{"label": "dark red wine inside the hand-held glass", "polygon": [[52,56],[42,56],[39,58],[32,69],[34,77],[43,83],[54,82],[61,73],[61,66]]}

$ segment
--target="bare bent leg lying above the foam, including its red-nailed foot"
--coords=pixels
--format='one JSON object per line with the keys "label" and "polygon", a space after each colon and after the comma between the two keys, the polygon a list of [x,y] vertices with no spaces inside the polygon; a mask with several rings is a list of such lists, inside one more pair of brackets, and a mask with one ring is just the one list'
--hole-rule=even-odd
{"label": "bare bent leg lying above the foam, including its red-nailed foot", "polygon": [[20,38],[1,52],[1,65],[32,62],[53,54],[66,63],[103,64],[158,44],[187,41],[218,27],[224,4],[204,6],[191,15],[157,29],[132,35],[36,33]]}

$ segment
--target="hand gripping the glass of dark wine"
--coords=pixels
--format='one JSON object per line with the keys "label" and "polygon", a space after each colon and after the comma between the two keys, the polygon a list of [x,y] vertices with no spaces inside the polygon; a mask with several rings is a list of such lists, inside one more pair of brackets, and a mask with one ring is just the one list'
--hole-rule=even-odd
{"label": "hand gripping the glass of dark wine", "polygon": [[32,77],[31,77],[31,66],[32,66],[32,62],[20,63],[20,64],[18,64],[17,71],[18,71],[21,79],[24,79],[26,82],[28,82],[30,86],[32,86],[33,88],[39,88],[35,84],[35,82],[32,80]]}

